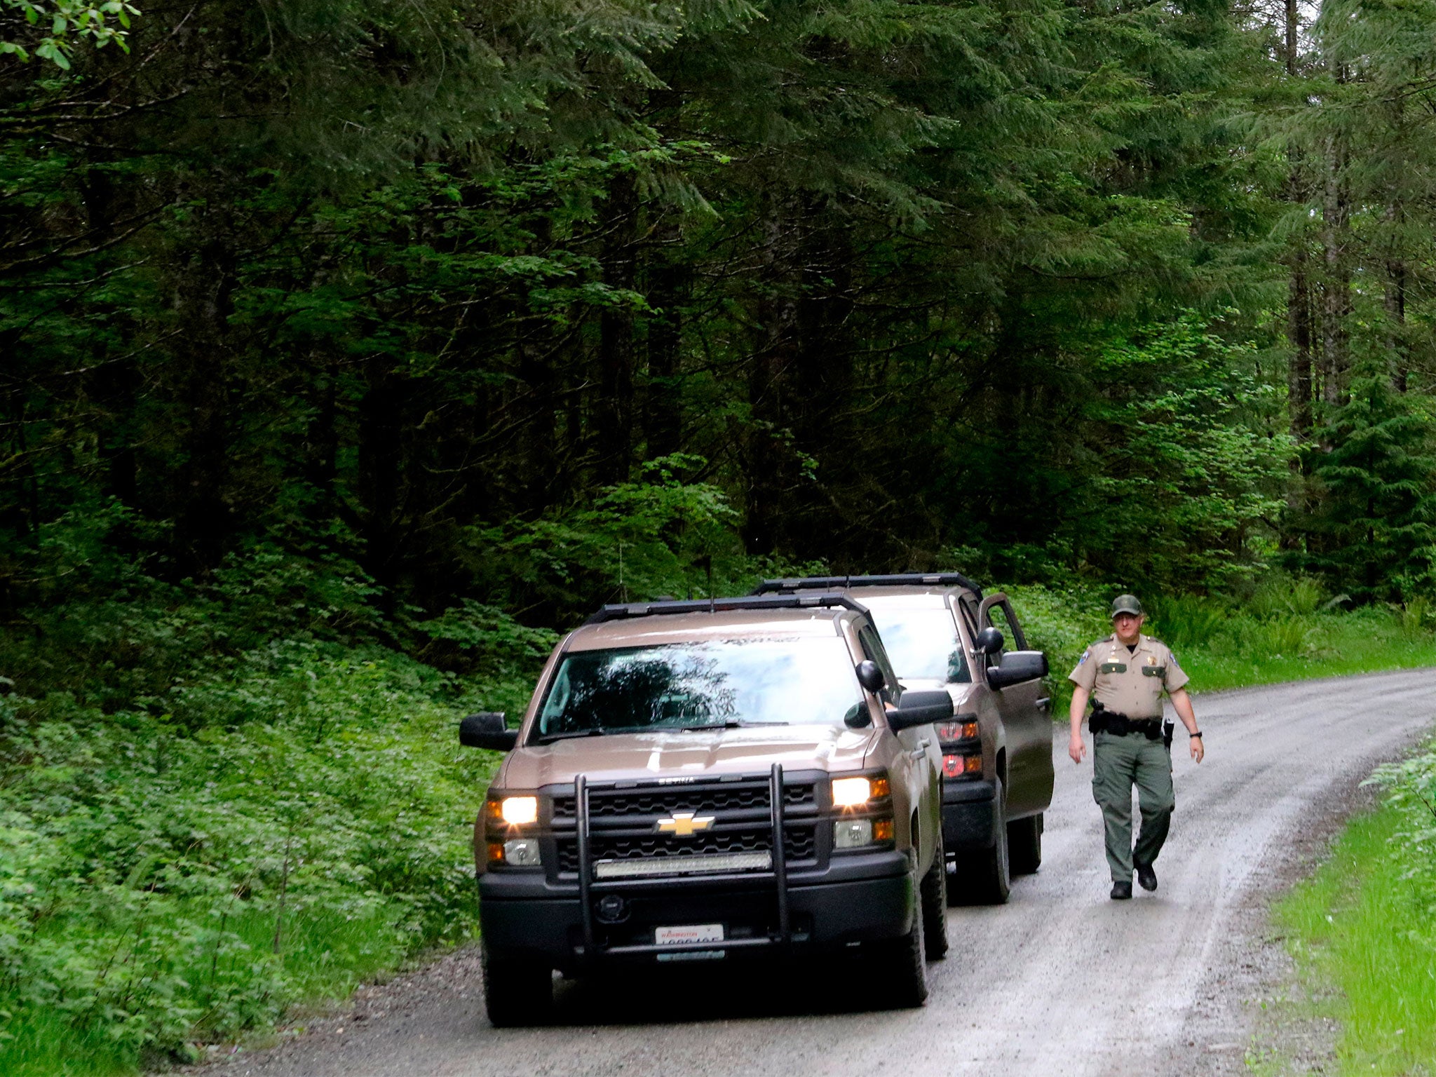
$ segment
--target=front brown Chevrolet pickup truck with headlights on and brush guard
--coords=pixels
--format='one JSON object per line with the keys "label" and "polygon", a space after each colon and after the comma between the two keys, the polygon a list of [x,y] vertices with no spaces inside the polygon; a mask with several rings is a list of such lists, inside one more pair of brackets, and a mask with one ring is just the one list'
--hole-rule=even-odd
{"label": "front brown Chevrolet pickup truck with headlights on and brush guard", "polygon": [[484,994],[541,1022],[553,971],[836,954],[920,1005],[942,956],[945,691],[867,612],[804,593],[606,606],[544,666],[474,827]]}

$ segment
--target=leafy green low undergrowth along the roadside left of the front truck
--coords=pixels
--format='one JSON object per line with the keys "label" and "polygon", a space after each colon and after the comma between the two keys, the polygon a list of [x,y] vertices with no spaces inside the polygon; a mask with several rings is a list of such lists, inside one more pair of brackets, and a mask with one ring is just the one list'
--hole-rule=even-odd
{"label": "leafy green low undergrowth along the roadside left of the front truck", "polygon": [[0,1071],[57,1021],[116,1064],[182,1053],[474,929],[495,757],[458,747],[458,682],[292,642],[172,702],[0,727]]}

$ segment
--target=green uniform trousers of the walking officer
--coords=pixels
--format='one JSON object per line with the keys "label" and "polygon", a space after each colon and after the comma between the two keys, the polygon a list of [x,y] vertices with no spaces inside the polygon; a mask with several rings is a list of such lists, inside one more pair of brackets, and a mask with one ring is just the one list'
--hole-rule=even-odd
{"label": "green uniform trousers of the walking officer", "polygon": [[[1162,852],[1172,826],[1172,752],[1162,741],[1142,734],[1093,737],[1091,796],[1107,829],[1107,864],[1111,880],[1132,882],[1132,860],[1150,864]],[[1142,833],[1132,847],[1132,787],[1137,787]]]}

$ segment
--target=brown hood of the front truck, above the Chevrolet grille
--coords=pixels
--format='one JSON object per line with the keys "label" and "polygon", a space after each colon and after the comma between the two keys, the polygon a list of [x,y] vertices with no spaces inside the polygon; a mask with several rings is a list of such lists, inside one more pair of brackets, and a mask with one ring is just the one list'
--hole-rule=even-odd
{"label": "brown hood of the front truck, above the Chevrolet grille", "polygon": [[751,729],[630,732],[526,745],[510,752],[495,784],[505,790],[590,780],[688,778],[784,770],[847,771],[863,767],[876,728],[774,725]]}

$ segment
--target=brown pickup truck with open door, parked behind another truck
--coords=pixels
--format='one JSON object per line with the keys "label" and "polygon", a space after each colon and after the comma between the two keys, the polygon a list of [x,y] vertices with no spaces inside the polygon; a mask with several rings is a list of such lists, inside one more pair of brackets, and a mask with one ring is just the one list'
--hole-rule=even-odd
{"label": "brown pickup truck with open door, parked behind another truck", "polygon": [[1043,816],[1053,801],[1047,656],[1028,651],[1007,595],[984,596],[961,573],[810,576],[765,580],[757,590],[810,592],[852,595],[877,625],[899,681],[952,695],[955,714],[938,725],[949,893],[1005,902],[1011,876],[1043,860]]}

